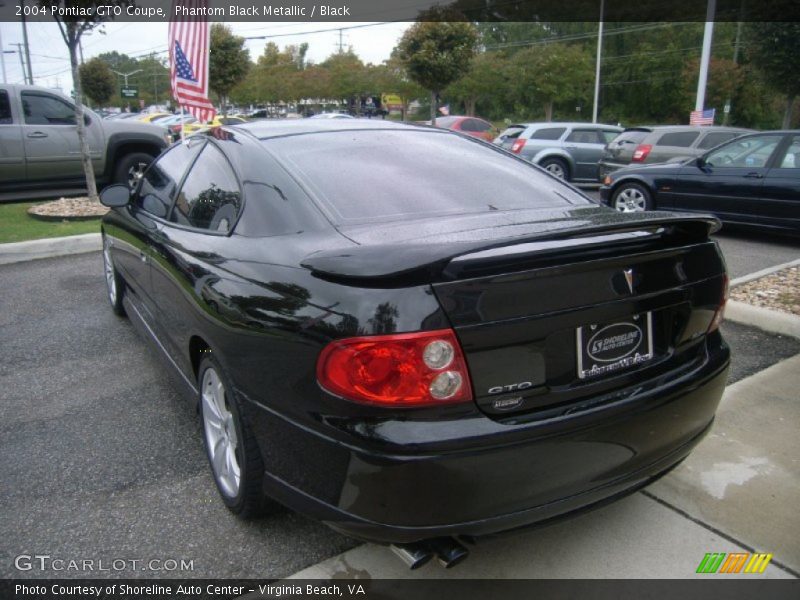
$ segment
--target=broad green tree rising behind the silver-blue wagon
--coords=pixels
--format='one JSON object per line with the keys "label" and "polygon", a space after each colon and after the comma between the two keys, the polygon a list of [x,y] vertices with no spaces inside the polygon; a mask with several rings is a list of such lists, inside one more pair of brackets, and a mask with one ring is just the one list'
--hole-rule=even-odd
{"label": "broad green tree rising behind the silver-blue wagon", "polygon": [[591,58],[579,46],[527,48],[517,52],[510,64],[517,102],[529,110],[543,106],[547,121],[553,120],[555,104],[589,98],[593,76]]}

